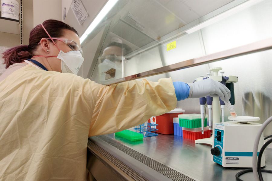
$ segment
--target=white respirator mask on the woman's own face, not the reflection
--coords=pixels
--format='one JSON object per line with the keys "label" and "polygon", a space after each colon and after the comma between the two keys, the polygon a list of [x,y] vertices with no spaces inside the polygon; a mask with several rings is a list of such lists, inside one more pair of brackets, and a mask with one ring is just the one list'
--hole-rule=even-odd
{"label": "white respirator mask on the woman's own face, not the reflection", "polygon": [[60,50],[57,58],[61,60],[62,73],[71,73],[75,75],[77,75],[79,68],[84,61],[84,58],[79,51],[70,51],[64,53]]}

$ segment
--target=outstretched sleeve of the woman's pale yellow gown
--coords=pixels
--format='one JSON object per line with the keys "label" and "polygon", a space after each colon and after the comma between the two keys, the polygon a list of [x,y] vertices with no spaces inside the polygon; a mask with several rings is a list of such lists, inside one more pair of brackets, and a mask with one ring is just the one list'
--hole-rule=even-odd
{"label": "outstretched sleeve of the woman's pale yellow gown", "polygon": [[171,78],[146,79],[101,86],[92,114],[89,136],[129,129],[176,108]]}

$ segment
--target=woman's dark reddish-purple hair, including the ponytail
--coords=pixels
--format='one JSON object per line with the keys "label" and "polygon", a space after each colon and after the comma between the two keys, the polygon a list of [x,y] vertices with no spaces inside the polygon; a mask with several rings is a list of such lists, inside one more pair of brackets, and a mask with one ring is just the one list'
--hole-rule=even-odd
{"label": "woman's dark reddish-purple hair, including the ponytail", "polygon": [[[71,30],[78,35],[77,31],[73,27],[70,27],[68,24],[63,23],[62,21],[57,21],[53,19],[46,20],[43,22],[43,26],[51,37],[63,36],[64,29]],[[30,59],[31,57],[35,56],[34,52],[39,46],[38,43],[40,42],[40,40],[42,38],[49,38],[44,28],[40,24],[37,25],[30,31],[28,45],[15,46],[6,50],[3,53],[3,59],[6,64],[6,68],[14,63],[21,63],[24,60]],[[51,39],[48,40],[52,41]]]}

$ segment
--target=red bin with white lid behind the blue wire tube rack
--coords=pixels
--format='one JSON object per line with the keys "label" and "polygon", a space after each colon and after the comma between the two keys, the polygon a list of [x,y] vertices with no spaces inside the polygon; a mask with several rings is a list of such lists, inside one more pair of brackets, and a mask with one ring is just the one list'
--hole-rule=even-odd
{"label": "red bin with white lid behind the blue wire tube rack", "polygon": [[[179,117],[179,114],[183,114],[185,111],[183,109],[174,109],[170,111],[169,113],[165,113],[160,116],[154,116],[156,122],[153,120],[151,123],[158,124],[156,126],[156,133],[161,133],[164,135],[171,135],[174,134],[174,125],[173,125],[173,118]],[[148,119],[148,122],[150,122],[150,119]]]}

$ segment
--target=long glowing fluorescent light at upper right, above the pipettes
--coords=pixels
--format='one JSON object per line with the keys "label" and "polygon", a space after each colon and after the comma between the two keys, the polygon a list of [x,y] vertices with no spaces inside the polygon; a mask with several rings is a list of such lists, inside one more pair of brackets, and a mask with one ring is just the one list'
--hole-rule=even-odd
{"label": "long glowing fluorescent light at upper right, above the pipettes", "polygon": [[211,19],[209,19],[207,21],[204,21],[203,23],[201,23],[199,25],[196,25],[193,28],[190,28],[189,30],[186,30],[185,32],[188,33],[188,34],[193,33],[193,32],[195,32],[197,30],[200,30],[201,28],[209,26],[209,25],[211,25],[211,24],[213,24],[213,23],[215,23],[217,21],[220,21],[220,20],[222,20],[222,19],[224,19],[226,17],[229,17],[229,16],[237,13],[237,12],[240,12],[240,11],[246,9],[246,8],[249,8],[250,6],[253,6],[253,5],[255,5],[255,4],[257,4],[257,3],[261,2],[261,1],[263,1],[263,0],[248,0],[248,1],[244,2],[244,3],[242,3],[241,5],[238,5],[238,6],[234,7],[234,8],[231,8],[231,9],[229,9],[229,10],[227,10],[227,11],[225,11],[225,12],[223,12],[223,13],[215,16],[215,17],[212,17]]}

